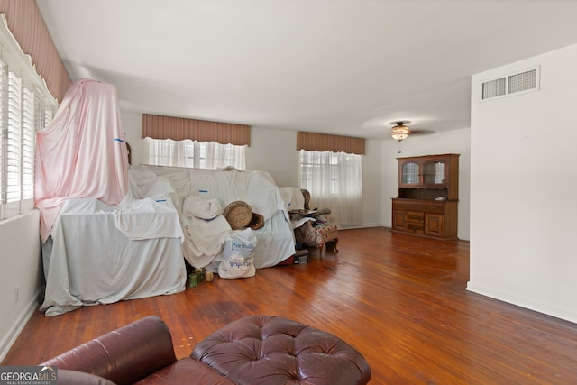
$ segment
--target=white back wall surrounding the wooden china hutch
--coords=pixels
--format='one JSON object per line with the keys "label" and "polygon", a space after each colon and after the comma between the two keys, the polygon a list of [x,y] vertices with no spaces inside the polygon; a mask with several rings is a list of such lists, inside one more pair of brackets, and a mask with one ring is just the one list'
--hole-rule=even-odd
{"label": "white back wall surrounding the wooden china hutch", "polygon": [[382,223],[390,227],[392,216],[391,197],[397,197],[397,158],[420,155],[458,153],[459,157],[459,212],[457,237],[469,240],[469,206],[470,206],[470,163],[471,163],[471,130],[469,127],[447,133],[430,135],[412,135],[401,142],[398,153],[398,142],[382,142]]}

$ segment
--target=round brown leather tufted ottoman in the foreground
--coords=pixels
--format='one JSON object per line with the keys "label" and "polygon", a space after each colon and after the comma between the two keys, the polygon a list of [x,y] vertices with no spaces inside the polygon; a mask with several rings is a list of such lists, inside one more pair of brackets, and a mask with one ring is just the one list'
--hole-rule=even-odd
{"label": "round brown leather tufted ottoman in the foreground", "polygon": [[340,338],[278,316],[246,316],[190,356],[240,385],[366,384],[369,363]]}

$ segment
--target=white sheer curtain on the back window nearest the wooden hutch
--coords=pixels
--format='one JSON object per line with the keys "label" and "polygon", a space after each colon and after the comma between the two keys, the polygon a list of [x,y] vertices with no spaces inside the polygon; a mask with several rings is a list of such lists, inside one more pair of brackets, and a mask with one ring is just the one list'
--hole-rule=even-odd
{"label": "white sheer curtain on the back window nearest the wooden hutch", "polygon": [[300,188],[310,192],[311,208],[329,208],[337,225],[361,225],[361,155],[301,150],[299,160]]}

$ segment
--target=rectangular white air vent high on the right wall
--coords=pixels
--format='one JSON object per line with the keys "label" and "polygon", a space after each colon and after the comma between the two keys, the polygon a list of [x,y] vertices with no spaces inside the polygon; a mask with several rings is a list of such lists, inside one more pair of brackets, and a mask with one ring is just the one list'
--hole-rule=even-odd
{"label": "rectangular white air vent high on the right wall", "polygon": [[481,100],[525,94],[539,90],[539,67],[505,75],[481,83]]}

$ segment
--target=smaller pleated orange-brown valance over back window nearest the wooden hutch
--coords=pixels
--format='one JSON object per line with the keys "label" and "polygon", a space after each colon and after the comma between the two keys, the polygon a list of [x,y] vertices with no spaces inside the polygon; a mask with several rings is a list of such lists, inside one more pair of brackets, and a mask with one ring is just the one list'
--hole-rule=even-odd
{"label": "smaller pleated orange-brown valance over back window nearest the wooden hutch", "polygon": [[297,150],[333,151],[364,155],[364,139],[326,133],[297,133]]}

